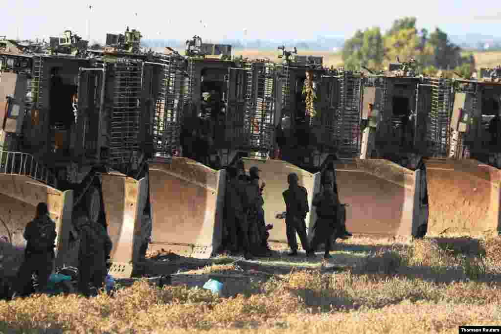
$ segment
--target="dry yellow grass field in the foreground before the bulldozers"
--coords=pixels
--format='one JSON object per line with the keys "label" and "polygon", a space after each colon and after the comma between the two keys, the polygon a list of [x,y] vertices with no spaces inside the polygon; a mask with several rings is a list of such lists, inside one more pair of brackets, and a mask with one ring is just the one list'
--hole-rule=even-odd
{"label": "dry yellow grass field in the foreground before the bulldozers", "polygon": [[[336,244],[328,262],[273,247],[271,258],[191,266],[152,255],[150,269],[177,272],[162,289],[142,280],[114,296],[2,301],[0,332],[457,333],[459,325],[501,323],[497,237],[354,237]],[[211,275],[224,283],[221,296],[200,288]]]}

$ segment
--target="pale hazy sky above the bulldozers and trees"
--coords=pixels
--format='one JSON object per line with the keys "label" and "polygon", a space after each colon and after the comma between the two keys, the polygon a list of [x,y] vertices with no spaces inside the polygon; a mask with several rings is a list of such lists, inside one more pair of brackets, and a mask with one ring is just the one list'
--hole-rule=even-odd
{"label": "pale hazy sky above the bulldozers and trees", "polygon": [[48,38],[71,29],[86,39],[90,18],[91,40],[98,41],[104,41],[106,33],[123,32],[127,25],[140,30],[145,39],[186,40],[193,35],[204,40],[242,39],[243,29],[252,40],[349,38],[357,29],[386,30],[396,18],[415,16],[418,28],[498,36],[501,8],[499,12],[495,8],[500,6],[494,0],[6,0],[0,35],[16,38],[19,31],[22,39]]}

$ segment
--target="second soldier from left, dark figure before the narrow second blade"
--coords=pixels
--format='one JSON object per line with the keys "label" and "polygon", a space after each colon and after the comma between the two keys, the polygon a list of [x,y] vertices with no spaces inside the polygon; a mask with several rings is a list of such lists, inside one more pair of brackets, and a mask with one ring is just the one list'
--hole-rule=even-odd
{"label": "second soldier from left, dark figure before the narrow second blade", "polygon": [[86,215],[80,216],[77,228],[80,232],[78,285],[80,292],[89,297],[90,284],[96,289],[104,286],[108,273],[106,261],[111,253],[112,242],[104,226],[92,222]]}

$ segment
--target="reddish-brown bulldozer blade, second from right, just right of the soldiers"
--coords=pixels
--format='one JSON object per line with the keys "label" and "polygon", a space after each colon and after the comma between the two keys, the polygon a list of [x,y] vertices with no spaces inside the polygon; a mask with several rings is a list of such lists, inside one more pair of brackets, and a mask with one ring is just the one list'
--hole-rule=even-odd
{"label": "reddish-brown bulldozer blade, second from right, just right of the soldiers", "polygon": [[[353,234],[418,234],[428,219],[420,186],[421,170],[412,171],[383,159],[347,159],[335,164],[346,227]],[[421,196],[420,196],[421,195]]]}

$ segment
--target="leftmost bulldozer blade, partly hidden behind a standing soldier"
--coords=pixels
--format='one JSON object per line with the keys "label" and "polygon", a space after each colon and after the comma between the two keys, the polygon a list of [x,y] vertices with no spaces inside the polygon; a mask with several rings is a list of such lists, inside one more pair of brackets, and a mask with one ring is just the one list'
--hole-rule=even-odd
{"label": "leftmost bulldozer blade, partly hidden behind a standing soldier", "polygon": [[[69,234],[72,226],[73,190],[60,191],[25,175],[0,174],[0,234],[6,235],[18,252],[26,247],[23,233],[26,225],[35,218],[38,203],[45,202],[49,215],[56,223],[56,265],[66,262]],[[23,257],[15,252],[0,254],[0,272],[14,274]],[[19,254],[17,254],[19,255]]]}

